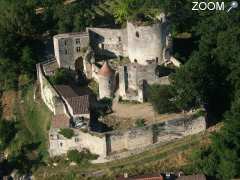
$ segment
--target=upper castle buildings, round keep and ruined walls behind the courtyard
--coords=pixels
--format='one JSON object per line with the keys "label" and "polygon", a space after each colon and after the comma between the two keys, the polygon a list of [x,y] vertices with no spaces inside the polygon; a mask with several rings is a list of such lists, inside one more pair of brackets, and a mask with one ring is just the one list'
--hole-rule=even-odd
{"label": "upper castle buildings, round keep and ruined walls behind the courtyard", "polygon": [[[171,35],[163,14],[152,25],[127,22],[124,29],[87,28],[84,33],[59,34],[53,39],[58,67],[81,71],[87,78],[95,79],[100,98],[112,97],[113,90],[119,87],[123,99],[143,102],[145,85],[158,81],[156,66],[173,59],[170,55]],[[128,57],[131,62],[115,69],[119,71],[119,81],[114,79],[117,76],[111,74],[108,64],[105,63],[102,69],[96,66],[96,59],[104,61],[116,57]]]}

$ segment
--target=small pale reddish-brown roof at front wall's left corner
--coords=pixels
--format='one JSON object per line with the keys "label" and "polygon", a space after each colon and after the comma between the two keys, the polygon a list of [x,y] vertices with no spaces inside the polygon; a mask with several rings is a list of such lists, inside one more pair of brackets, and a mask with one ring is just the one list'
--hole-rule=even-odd
{"label": "small pale reddish-brown roof at front wall's left corner", "polygon": [[52,118],[53,128],[68,128],[70,126],[70,118],[65,114],[54,115]]}

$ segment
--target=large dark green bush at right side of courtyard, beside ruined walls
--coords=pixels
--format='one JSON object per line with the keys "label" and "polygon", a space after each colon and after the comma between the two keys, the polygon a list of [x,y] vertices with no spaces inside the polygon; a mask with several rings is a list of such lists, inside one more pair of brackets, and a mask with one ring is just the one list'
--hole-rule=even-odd
{"label": "large dark green bush at right side of courtyard, beside ruined walls", "polygon": [[167,85],[152,85],[148,88],[148,100],[159,114],[176,112],[171,87]]}

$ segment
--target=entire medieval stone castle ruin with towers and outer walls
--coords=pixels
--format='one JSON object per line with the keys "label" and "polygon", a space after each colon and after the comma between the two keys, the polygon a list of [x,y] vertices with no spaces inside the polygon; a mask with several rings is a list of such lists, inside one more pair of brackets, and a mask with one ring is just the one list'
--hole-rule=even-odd
{"label": "entire medieval stone castle ruin with towers and outer walls", "polygon": [[[128,154],[206,128],[205,118],[185,116],[128,130],[94,132],[91,130],[91,95],[74,86],[54,85],[48,77],[65,68],[98,83],[98,99],[104,97],[144,102],[148,84],[169,84],[168,76],[159,76],[157,66],[180,63],[171,56],[172,40],[168,22],[139,26],[128,22],[124,29],[87,28],[86,32],[53,37],[55,58],[37,64],[41,98],[53,112],[49,131],[49,153],[61,155],[71,149],[89,149],[104,161]],[[127,63],[119,63],[128,58]],[[113,63],[110,63],[113,62]],[[59,129],[71,128],[75,136],[67,139]]]}

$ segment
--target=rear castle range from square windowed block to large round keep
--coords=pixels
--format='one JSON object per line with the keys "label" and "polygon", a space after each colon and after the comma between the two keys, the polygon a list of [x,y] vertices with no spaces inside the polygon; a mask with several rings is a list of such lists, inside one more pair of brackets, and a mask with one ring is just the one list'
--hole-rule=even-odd
{"label": "rear castle range from square windowed block to large round keep", "polygon": [[90,45],[96,56],[129,57],[141,65],[161,64],[172,48],[168,29],[162,16],[147,26],[128,22],[124,29],[87,28],[84,33],[59,34],[54,36],[55,57],[59,67],[76,69],[78,58],[83,58],[82,49]]}

